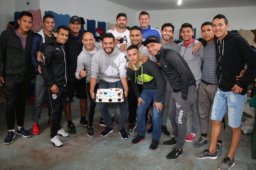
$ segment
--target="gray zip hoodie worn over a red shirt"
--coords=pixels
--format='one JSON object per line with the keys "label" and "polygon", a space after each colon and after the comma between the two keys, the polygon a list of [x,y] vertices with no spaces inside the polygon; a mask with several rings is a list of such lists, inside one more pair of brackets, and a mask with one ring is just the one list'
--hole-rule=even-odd
{"label": "gray zip hoodie worn over a red shirt", "polygon": [[184,41],[178,43],[178,45],[181,51],[181,56],[183,57],[183,59],[185,59],[189,66],[189,69],[195,77],[196,85],[199,85],[202,76],[201,64],[203,61],[203,48],[201,46],[201,48],[199,48],[199,50],[197,51],[197,54],[194,55],[192,53],[192,49],[197,43],[199,43],[199,41],[195,40],[193,43],[190,43],[187,48],[184,45]]}

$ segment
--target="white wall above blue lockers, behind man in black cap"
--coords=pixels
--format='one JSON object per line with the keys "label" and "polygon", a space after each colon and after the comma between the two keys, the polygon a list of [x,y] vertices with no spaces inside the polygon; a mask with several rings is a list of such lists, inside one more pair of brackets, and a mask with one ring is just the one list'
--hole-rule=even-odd
{"label": "white wall above blue lockers, behind man in black cap", "polygon": [[106,0],[55,0],[55,5],[49,5],[52,2],[52,0],[40,0],[42,16],[44,16],[45,11],[54,11],[58,14],[69,14],[70,16],[77,15],[85,19],[85,30],[87,29],[87,19],[95,20],[97,27],[98,21],[115,23],[118,13],[127,14],[127,26],[136,24],[134,19],[136,11]]}

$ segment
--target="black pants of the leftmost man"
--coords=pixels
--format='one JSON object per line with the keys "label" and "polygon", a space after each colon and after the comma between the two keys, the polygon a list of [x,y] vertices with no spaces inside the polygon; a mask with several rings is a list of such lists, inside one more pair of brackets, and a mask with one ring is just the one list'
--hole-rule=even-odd
{"label": "black pants of the leftmost man", "polygon": [[8,130],[14,129],[15,111],[17,125],[24,126],[25,105],[31,82],[30,75],[21,76],[5,74],[3,88],[5,90],[5,117]]}

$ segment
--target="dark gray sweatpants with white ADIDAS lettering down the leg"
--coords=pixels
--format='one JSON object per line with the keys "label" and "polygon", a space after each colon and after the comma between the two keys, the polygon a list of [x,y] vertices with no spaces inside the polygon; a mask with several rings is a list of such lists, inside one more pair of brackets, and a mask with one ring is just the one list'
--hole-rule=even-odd
{"label": "dark gray sweatpants with white ADIDAS lettering down the leg", "polygon": [[[196,99],[196,86],[188,89],[187,101],[181,98],[181,92],[173,92],[169,102],[169,119],[173,128],[174,138],[177,138],[176,147],[182,149],[187,133],[187,113]],[[176,105],[176,107],[175,107]]]}

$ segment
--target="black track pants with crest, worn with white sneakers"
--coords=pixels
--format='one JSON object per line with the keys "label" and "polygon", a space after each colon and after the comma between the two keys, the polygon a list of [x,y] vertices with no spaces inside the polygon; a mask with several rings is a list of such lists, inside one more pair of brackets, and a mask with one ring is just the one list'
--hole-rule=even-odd
{"label": "black track pants with crest, worn with white sneakers", "polygon": [[54,138],[57,136],[58,130],[61,129],[61,116],[64,109],[64,100],[67,94],[66,86],[57,86],[59,89],[59,93],[51,92],[51,88],[48,86],[47,88],[47,96],[49,98],[49,111],[51,113],[50,123],[50,136]]}

